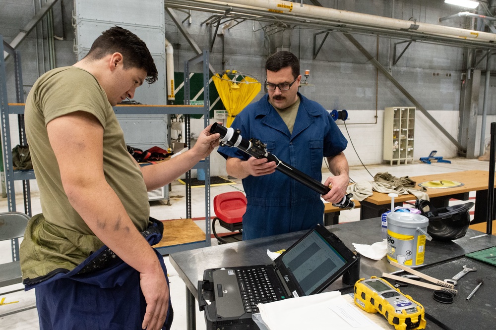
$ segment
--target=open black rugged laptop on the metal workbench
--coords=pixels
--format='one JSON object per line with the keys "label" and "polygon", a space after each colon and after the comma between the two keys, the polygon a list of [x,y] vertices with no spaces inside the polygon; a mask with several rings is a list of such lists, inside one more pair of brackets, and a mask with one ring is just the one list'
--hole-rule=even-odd
{"label": "open black rugged laptop on the metal workbench", "polygon": [[360,278],[360,255],[317,225],[270,265],[205,270],[199,309],[207,330],[258,329],[251,319],[256,304],[322,292],[343,274],[349,284]]}

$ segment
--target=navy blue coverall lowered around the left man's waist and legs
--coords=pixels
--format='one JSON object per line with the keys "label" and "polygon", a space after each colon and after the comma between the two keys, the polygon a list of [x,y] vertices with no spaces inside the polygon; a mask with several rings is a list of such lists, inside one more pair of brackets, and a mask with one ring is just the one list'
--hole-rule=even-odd
{"label": "navy blue coverall lowered around the left man's waist and legs", "polygon": [[[162,239],[163,225],[158,220],[152,222],[151,227],[160,230],[150,230],[145,239],[155,245]],[[36,288],[40,330],[141,329],[147,304],[140,274],[108,250],[106,245],[102,246],[71,271],[61,268],[23,281],[26,291]],[[169,285],[164,258],[157,250],[154,252]],[[83,291],[85,294],[80,294]],[[163,330],[171,329],[173,318],[169,298]]]}

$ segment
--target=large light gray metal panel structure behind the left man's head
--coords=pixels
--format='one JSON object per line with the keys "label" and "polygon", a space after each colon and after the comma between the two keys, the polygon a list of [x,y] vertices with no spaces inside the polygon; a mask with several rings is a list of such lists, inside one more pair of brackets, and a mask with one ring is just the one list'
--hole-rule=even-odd
{"label": "large light gray metal panel structure behind the left man's head", "polygon": [[[141,38],[155,61],[159,79],[143,84],[134,101],[149,105],[167,104],[165,78],[165,21],[163,0],[74,0],[76,40],[74,52],[83,58],[101,33],[118,25]],[[153,146],[167,148],[167,115],[119,115],[127,145],[146,150]],[[164,198],[169,198],[165,189]]]}

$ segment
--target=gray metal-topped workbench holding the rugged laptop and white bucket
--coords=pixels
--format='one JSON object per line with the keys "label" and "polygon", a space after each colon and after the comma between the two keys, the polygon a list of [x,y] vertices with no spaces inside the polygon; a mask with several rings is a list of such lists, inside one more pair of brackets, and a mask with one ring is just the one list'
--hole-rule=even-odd
{"label": "gray metal-topped workbench holding the rugged laptop and white bucket", "polygon": [[[335,233],[351,250],[354,250],[352,243],[372,244],[381,240],[381,227],[378,219],[341,223],[327,228]],[[187,329],[196,329],[194,299],[198,298],[196,286],[198,280],[203,279],[205,269],[270,264],[271,261],[266,254],[267,249],[270,251],[287,249],[304,234],[304,231],[293,232],[171,254],[169,256],[170,262],[186,283]],[[428,241],[426,244],[425,264],[433,265],[496,245],[496,236],[492,235],[470,239],[470,237],[480,234],[482,233],[479,231],[469,229],[464,237],[453,242]],[[392,273],[397,270],[387,262],[386,258],[380,261],[365,257],[361,258],[361,277],[381,276],[383,272]],[[446,274],[446,278],[453,275],[455,274]],[[342,290],[349,288],[350,286],[344,284],[339,278],[328,289]]]}

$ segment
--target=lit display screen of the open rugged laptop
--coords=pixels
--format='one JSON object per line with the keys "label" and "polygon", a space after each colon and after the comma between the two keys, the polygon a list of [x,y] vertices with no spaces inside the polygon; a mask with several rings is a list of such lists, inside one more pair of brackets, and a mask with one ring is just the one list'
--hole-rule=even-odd
{"label": "lit display screen of the open rugged laptop", "polygon": [[346,264],[346,259],[317,230],[310,232],[280,258],[305,295],[310,295]]}

